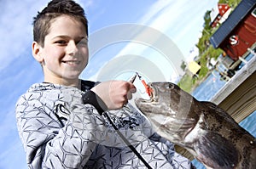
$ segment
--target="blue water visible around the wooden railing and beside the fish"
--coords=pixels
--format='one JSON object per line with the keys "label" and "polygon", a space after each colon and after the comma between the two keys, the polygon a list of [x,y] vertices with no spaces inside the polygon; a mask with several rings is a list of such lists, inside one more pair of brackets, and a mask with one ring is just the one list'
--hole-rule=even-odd
{"label": "blue water visible around the wooden railing and beside the fish", "polygon": [[[218,93],[218,90],[223,87],[225,84],[224,81],[220,80],[220,76],[217,72],[212,72],[207,79],[201,83],[199,87],[196,87],[192,95],[195,99],[209,101],[212,97]],[[247,116],[244,121],[241,121],[239,125],[245,128],[248,132],[250,132],[254,137],[256,137],[256,111],[254,111],[251,115]],[[198,169],[206,169],[200,162],[194,160],[192,163]]]}

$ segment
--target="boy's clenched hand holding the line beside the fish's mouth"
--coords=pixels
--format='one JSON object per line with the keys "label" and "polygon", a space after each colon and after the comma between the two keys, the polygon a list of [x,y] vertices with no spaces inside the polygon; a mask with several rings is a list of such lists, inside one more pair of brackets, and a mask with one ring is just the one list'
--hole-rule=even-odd
{"label": "boy's clenched hand holding the line beside the fish's mouth", "polygon": [[108,110],[118,110],[128,103],[131,93],[136,93],[136,87],[131,82],[108,81],[91,88],[107,105]]}

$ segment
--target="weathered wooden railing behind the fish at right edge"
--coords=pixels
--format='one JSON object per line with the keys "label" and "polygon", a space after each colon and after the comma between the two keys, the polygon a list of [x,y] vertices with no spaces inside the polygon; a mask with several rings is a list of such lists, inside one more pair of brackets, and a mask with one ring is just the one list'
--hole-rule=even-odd
{"label": "weathered wooden railing behind the fish at right edge", "polygon": [[237,122],[256,110],[256,55],[236,72],[211,102],[226,110]]}

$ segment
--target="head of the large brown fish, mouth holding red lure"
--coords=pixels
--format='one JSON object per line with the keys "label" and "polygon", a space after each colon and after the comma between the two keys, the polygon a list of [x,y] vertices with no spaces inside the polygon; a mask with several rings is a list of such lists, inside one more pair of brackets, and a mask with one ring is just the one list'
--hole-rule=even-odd
{"label": "head of the large brown fish, mouth holding red lure", "polygon": [[194,98],[172,82],[150,82],[148,87],[150,99],[135,99],[137,108],[160,136],[181,142],[195,125],[195,115],[190,112]]}

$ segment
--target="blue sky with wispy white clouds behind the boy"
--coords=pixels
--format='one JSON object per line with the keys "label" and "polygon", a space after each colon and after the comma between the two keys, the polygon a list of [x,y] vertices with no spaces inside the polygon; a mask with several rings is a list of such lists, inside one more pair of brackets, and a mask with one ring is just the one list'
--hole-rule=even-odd
{"label": "blue sky with wispy white clouds behind the boy", "polygon": [[[25,153],[16,129],[15,102],[33,83],[44,81],[40,65],[32,58],[31,43],[32,17],[38,10],[44,8],[47,2],[43,0],[1,1],[0,169],[26,168]],[[84,7],[88,17],[90,34],[111,25],[146,25],[172,39],[184,59],[188,60],[189,51],[195,47],[201,34],[203,15],[218,3],[217,0],[79,0],[78,2]],[[110,35],[102,36],[102,39],[106,37]],[[157,53],[154,48],[149,52]],[[148,52],[145,52],[145,45],[134,42],[132,44],[120,42],[101,48],[90,62],[90,68],[97,69],[84,71],[82,77],[95,80],[96,71],[101,68],[98,59],[102,59],[102,55],[105,61],[102,65],[104,65],[116,55],[129,54],[145,55]],[[157,62],[156,57],[150,57],[151,62]],[[160,68],[161,64],[164,63],[156,67],[160,71],[165,71],[164,68]]]}

